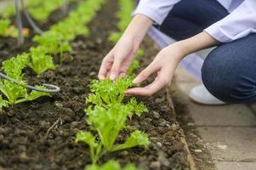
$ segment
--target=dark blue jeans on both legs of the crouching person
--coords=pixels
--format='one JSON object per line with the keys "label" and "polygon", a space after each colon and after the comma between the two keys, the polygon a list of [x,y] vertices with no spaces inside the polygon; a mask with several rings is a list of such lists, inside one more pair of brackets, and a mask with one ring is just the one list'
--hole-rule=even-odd
{"label": "dark blue jeans on both legs of the crouching person", "polygon": [[[229,14],[215,0],[182,0],[157,29],[182,40],[192,37]],[[256,34],[223,43],[208,54],[202,66],[208,91],[227,103],[256,101]]]}

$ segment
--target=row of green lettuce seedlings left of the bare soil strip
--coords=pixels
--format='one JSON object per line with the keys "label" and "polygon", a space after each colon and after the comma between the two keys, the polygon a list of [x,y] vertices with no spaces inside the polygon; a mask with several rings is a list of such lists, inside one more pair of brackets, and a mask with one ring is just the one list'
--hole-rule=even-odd
{"label": "row of green lettuce seedlings left of the bare soil strip", "polygon": [[[36,91],[29,93],[26,89],[26,82],[23,80],[24,74],[22,71],[28,66],[37,73],[37,76],[40,76],[43,71],[54,70],[55,65],[50,54],[70,51],[71,45],[69,41],[73,40],[77,35],[88,35],[88,27],[86,25],[94,18],[94,14],[103,3],[105,3],[105,0],[84,0],[65,20],[60,21],[56,26],[52,26],[43,35],[34,37],[34,41],[39,43],[37,47],[30,48],[28,53],[19,54],[3,61],[3,72],[21,84],[0,80],[1,109],[9,107],[9,105],[37,99],[42,95],[50,95]],[[84,10],[84,8],[87,10]]]}

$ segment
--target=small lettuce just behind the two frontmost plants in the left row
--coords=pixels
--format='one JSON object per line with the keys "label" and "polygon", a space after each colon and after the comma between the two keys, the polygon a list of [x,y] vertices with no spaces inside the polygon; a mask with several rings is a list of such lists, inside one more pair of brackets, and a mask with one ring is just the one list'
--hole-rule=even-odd
{"label": "small lettuce just behind the two frontmost plants in the left row", "polygon": [[45,53],[45,48],[37,46],[30,48],[30,62],[28,66],[40,76],[44,71],[54,70],[54,60],[52,56]]}

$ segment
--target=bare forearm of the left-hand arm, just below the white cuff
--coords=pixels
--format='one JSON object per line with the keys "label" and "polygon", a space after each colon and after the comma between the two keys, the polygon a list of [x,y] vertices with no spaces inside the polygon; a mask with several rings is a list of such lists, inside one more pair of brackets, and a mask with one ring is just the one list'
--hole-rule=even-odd
{"label": "bare forearm of the left-hand arm, just below the white cuff", "polygon": [[131,21],[126,31],[124,31],[124,37],[132,37],[134,39],[134,43],[139,44],[145,37],[145,34],[150,29],[153,24],[153,20],[144,14],[136,14],[134,19]]}

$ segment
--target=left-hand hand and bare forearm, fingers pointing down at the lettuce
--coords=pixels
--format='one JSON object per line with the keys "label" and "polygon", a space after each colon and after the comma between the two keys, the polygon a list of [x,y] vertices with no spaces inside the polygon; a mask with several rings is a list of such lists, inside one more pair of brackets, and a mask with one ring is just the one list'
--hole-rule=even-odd
{"label": "left-hand hand and bare forearm, fingers pointing down at the lettuce", "polygon": [[144,14],[136,14],[116,46],[105,56],[98,74],[99,79],[124,77],[132,63],[140,43],[153,21]]}

